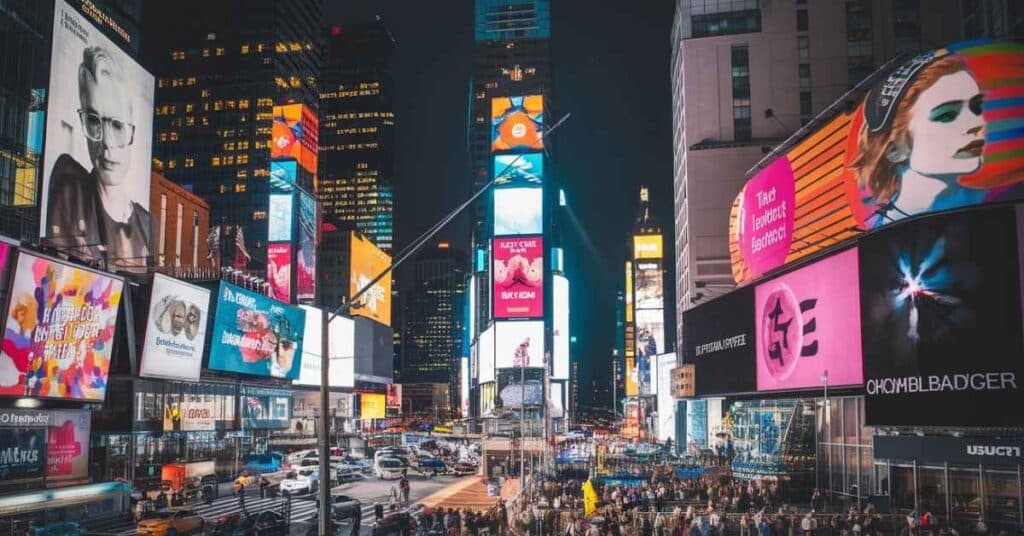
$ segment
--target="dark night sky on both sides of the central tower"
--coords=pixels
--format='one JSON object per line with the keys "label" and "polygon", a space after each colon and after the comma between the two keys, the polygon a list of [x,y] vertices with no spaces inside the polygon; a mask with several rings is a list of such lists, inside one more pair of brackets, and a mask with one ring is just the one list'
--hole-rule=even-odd
{"label": "dark night sky on both sides of the central tower", "polygon": [[[380,14],[396,42],[395,185],[398,248],[468,196],[466,113],[472,69],[473,2],[328,0],[328,23]],[[556,169],[574,217],[562,221],[570,279],[571,331],[579,342],[581,401],[610,378],[615,290],[623,285],[641,184],[672,253],[672,0],[552,1],[554,100],[571,119],[556,133]],[[557,137],[556,137],[557,136]],[[466,217],[443,235],[468,246]],[[401,281],[399,274],[399,281]],[[675,302],[671,276],[666,303]],[[670,307],[671,308],[671,307]],[[666,322],[674,338],[674,311]]]}

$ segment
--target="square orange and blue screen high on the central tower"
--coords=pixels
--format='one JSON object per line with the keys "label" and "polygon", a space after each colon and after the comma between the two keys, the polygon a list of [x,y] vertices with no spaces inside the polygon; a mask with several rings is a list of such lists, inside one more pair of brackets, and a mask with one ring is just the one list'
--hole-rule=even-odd
{"label": "square orange and blue screen high on the central tower", "polygon": [[490,99],[490,150],[544,149],[544,95]]}

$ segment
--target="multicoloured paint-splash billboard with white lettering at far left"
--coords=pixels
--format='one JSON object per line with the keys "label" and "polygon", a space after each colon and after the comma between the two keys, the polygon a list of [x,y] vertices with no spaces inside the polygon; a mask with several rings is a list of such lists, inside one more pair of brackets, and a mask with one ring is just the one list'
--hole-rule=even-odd
{"label": "multicoloured paint-splash billboard with white lettering at far left", "polygon": [[122,285],[23,251],[0,349],[0,396],[102,401]]}

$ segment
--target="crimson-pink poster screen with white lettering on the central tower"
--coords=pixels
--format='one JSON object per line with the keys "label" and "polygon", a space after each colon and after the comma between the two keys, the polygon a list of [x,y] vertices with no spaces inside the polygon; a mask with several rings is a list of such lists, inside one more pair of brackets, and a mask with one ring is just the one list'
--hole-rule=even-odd
{"label": "crimson-pink poster screen with white lettering on the central tower", "polygon": [[544,240],[495,239],[495,318],[544,316]]}

